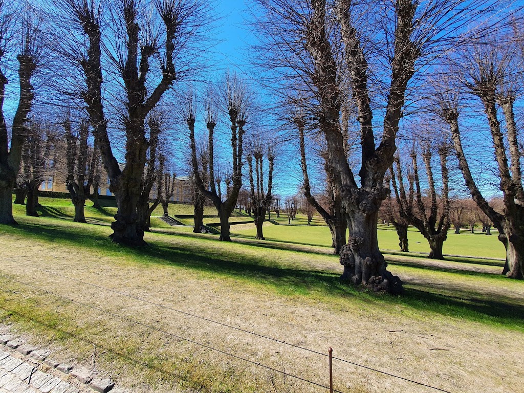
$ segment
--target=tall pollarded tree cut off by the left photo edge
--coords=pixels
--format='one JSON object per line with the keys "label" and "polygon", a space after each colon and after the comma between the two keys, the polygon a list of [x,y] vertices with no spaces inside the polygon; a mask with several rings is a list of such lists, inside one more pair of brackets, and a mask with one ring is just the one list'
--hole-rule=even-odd
{"label": "tall pollarded tree cut off by the left photo edge", "polygon": [[[20,45],[12,45],[15,37],[22,37]],[[9,8],[4,0],[0,0],[0,224],[16,224],[13,217],[13,189],[26,140],[25,124],[34,99],[31,78],[39,64],[40,44],[40,32],[35,17],[29,12]],[[9,82],[6,76],[9,70],[5,68],[5,64],[10,63],[9,53],[16,56],[20,84],[10,138],[4,115],[6,85]]]}

